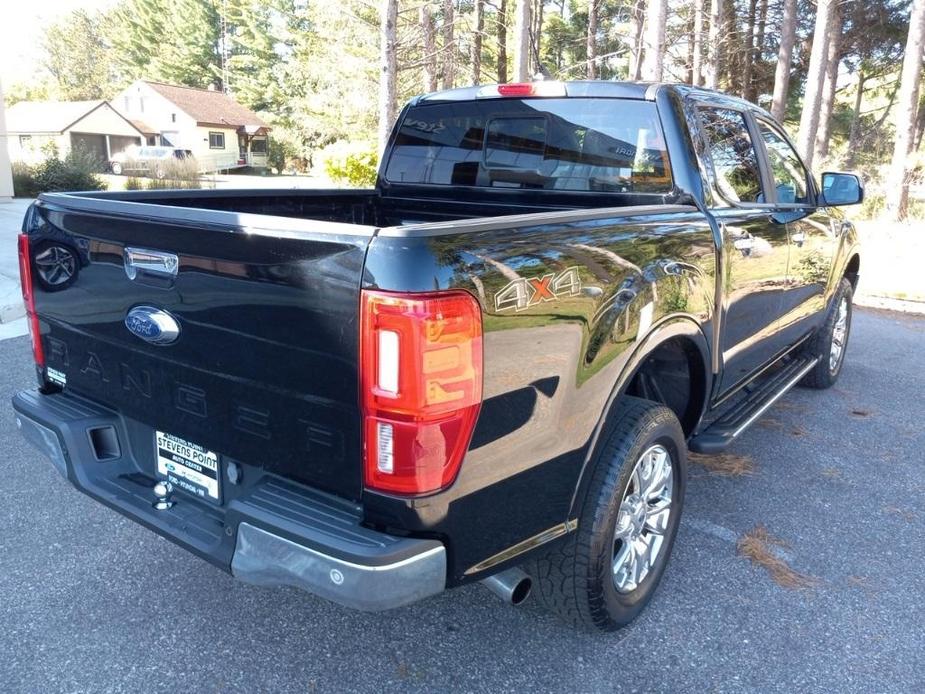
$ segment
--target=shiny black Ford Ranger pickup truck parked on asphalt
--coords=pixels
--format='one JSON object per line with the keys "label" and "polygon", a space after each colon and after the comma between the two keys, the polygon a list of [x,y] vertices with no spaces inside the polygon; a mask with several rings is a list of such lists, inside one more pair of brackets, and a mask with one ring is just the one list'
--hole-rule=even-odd
{"label": "shiny black Ford Ranger pickup truck parked on asphalt", "polygon": [[79,490],[244,581],[363,610],[532,581],[614,629],[688,448],[838,378],[862,195],[715,92],[429,94],[372,190],[41,196],[13,408]]}

